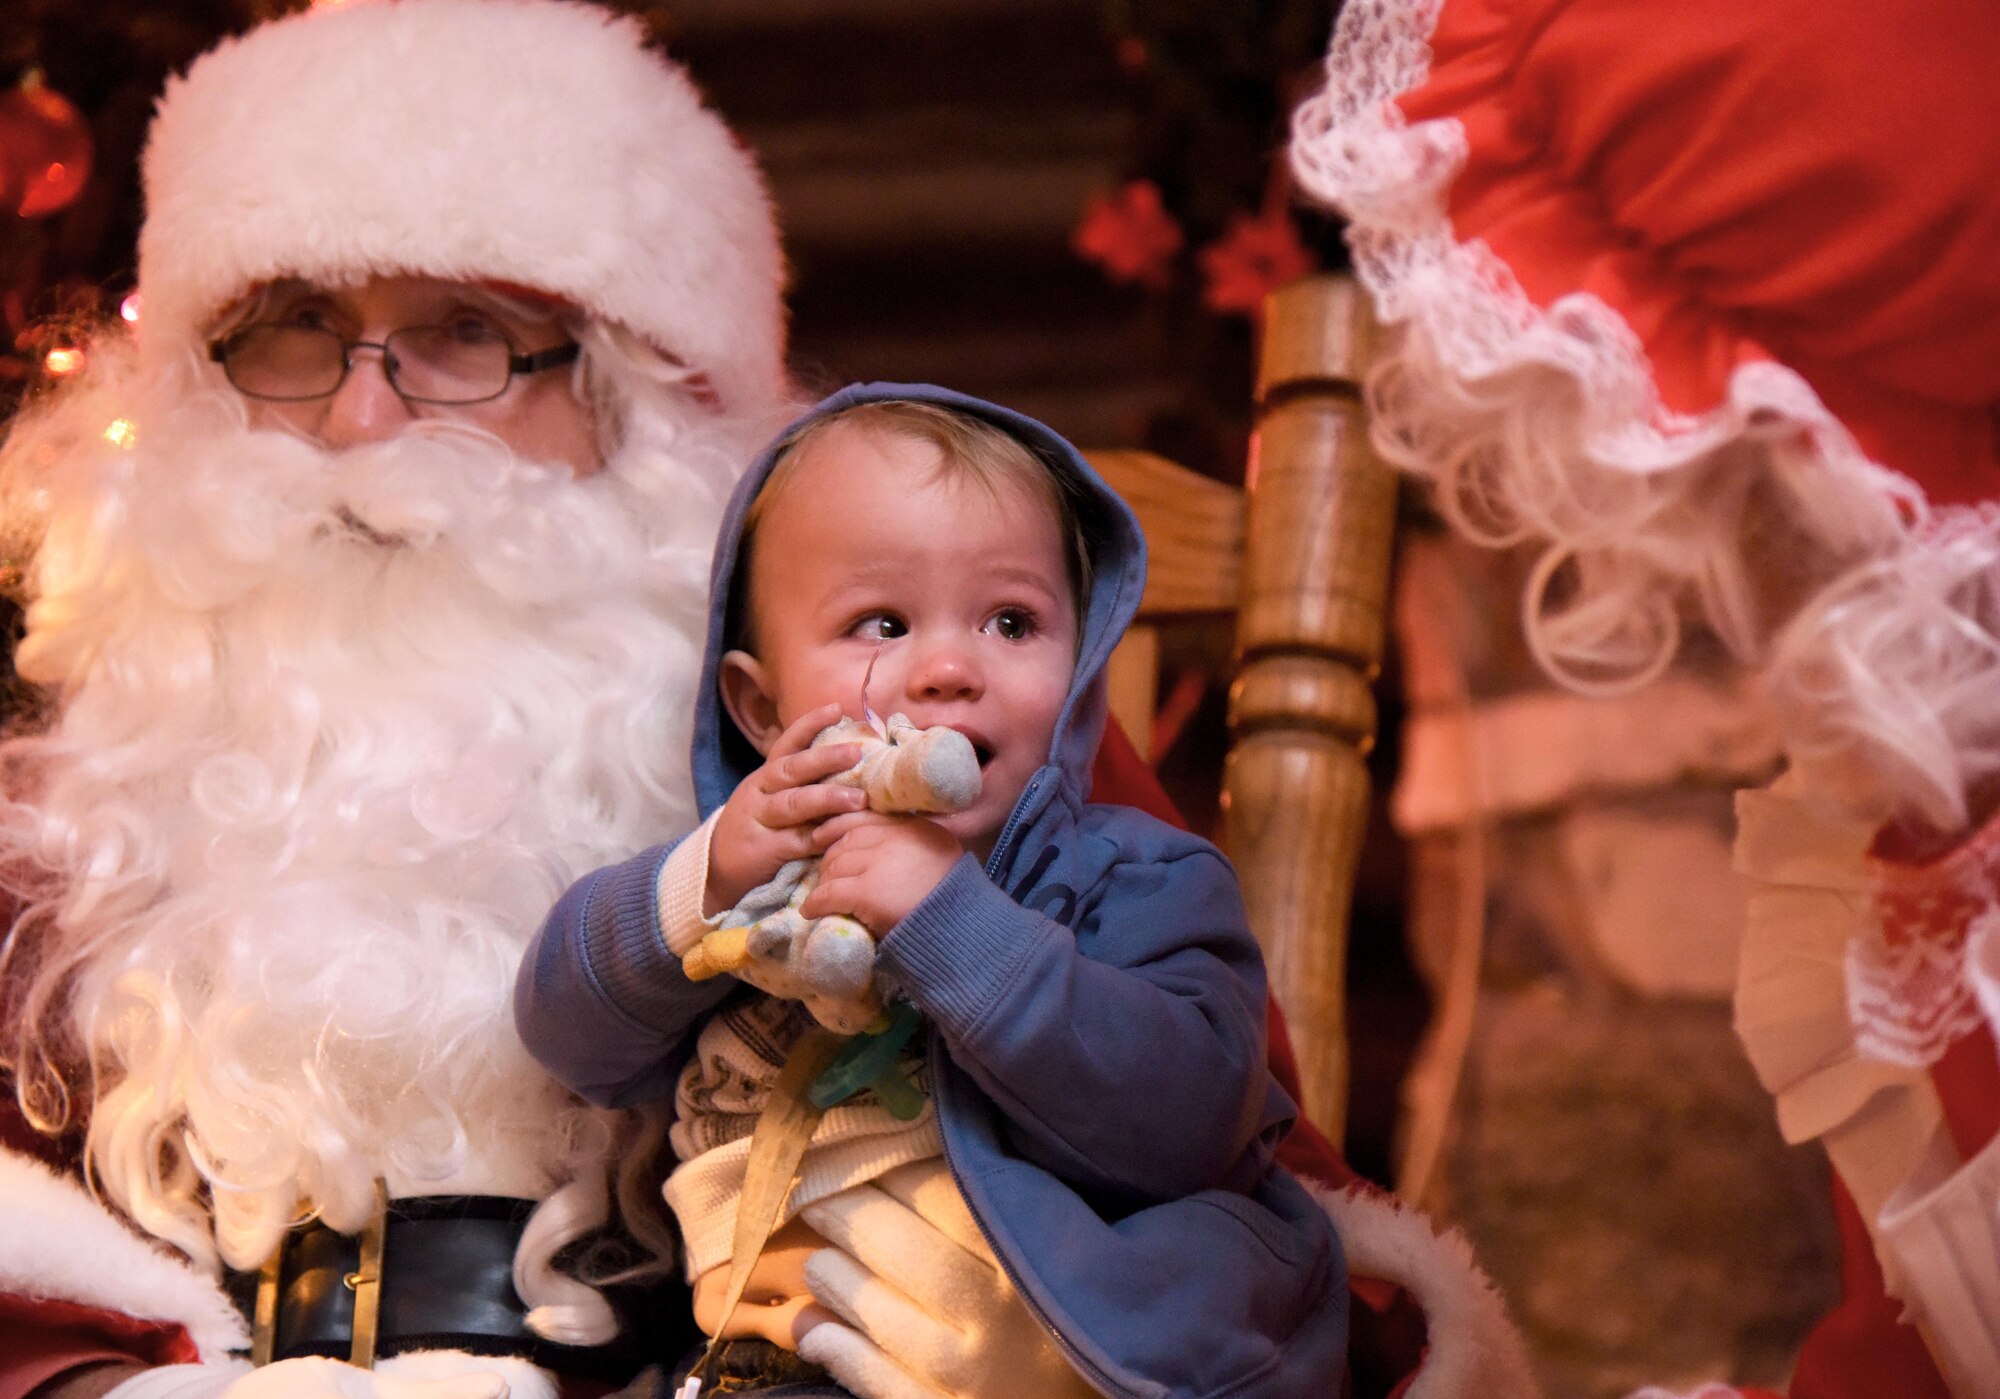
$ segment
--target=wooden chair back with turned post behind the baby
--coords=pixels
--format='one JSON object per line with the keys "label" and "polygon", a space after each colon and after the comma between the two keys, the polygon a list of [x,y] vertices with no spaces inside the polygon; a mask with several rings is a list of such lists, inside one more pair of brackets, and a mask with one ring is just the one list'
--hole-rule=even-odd
{"label": "wooden chair back with turned post behind the baby", "polygon": [[1396,528],[1396,480],[1362,418],[1374,342],[1368,298],[1348,278],[1302,278],[1270,298],[1244,490],[1142,452],[1090,454],[1150,548],[1140,620],[1110,672],[1112,713],[1144,757],[1156,757],[1158,624],[1234,614],[1222,847],[1292,1031],[1302,1107],[1336,1143],[1348,907]]}

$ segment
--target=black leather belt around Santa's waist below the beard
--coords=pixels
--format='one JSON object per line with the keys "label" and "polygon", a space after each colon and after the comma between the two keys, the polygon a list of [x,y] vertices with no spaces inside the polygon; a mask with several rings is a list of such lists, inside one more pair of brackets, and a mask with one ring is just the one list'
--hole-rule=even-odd
{"label": "black leather belt around Santa's waist below the beard", "polygon": [[[646,1363],[700,1339],[694,1301],[678,1277],[604,1293],[624,1323],[608,1345],[556,1345],[528,1329],[514,1293],[514,1251],[532,1199],[418,1195],[388,1205],[376,1355],[456,1349],[516,1355],[560,1375],[622,1383]],[[310,1223],[284,1239],[272,1359],[346,1359],[354,1335],[360,1243]],[[258,1273],[230,1273],[238,1309],[252,1315]]]}

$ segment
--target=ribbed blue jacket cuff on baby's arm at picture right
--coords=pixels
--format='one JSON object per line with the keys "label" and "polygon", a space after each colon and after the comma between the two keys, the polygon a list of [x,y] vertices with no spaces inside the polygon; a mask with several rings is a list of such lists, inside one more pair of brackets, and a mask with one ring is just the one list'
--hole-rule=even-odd
{"label": "ribbed blue jacket cuff on baby's arm at picture right", "polygon": [[882,939],[910,999],[952,1033],[970,1033],[1054,925],[1010,899],[972,855]]}

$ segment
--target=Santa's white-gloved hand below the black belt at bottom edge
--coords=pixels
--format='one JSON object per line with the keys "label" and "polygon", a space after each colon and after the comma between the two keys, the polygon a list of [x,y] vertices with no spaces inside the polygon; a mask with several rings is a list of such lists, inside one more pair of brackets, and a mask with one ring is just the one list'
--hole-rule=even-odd
{"label": "Santa's white-gloved hand below the black belt at bottom edge", "polygon": [[[450,1355],[464,1365],[506,1365],[528,1369],[520,1361],[474,1361],[470,1355]],[[410,1355],[406,1361],[438,1361],[444,1355]],[[106,1399],[542,1399],[554,1397],[554,1387],[534,1373],[534,1381],[518,1389],[508,1385],[498,1369],[458,1369],[438,1373],[442,1365],[398,1365],[390,1369],[356,1369],[340,1361],[302,1357],[252,1369],[236,1361],[228,1365],[164,1365],[134,1375]]]}

